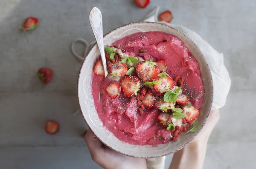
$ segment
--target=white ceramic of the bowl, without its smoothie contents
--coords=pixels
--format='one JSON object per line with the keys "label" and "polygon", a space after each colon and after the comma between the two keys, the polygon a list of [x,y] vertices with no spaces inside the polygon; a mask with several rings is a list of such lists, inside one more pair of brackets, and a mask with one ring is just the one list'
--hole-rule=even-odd
{"label": "white ceramic of the bowl, without its smoothie contents", "polygon": [[93,73],[95,59],[97,56],[99,56],[99,49],[96,44],[94,44],[93,47],[90,49],[89,53],[87,54],[81,65],[77,90],[81,113],[84,116],[88,127],[94,132],[97,138],[102,141],[103,144],[107,145],[113,150],[116,150],[117,152],[128,156],[137,158],[156,158],[176,152],[177,150],[186,146],[186,144],[192,141],[192,139],[195,138],[198,132],[200,132],[208,118],[212,105],[212,76],[203,54],[192,42],[192,40],[188,39],[185,35],[181,34],[175,28],[169,27],[164,24],[140,22],[123,25],[105,34],[104,44],[110,45],[111,43],[115,42],[118,39],[121,39],[122,37],[126,37],[136,32],[146,31],[163,31],[179,37],[189,48],[192,55],[195,56],[195,58],[197,59],[200,65],[201,76],[204,82],[205,91],[204,102],[198,116],[199,128],[197,132],[183,133],[177,141],[171,141],[167,144],[160,144],[157,147],[152,147],[150,145],[138,146],[127,144],[116,138],[110,131],[108,131],[103,126],[102,121],[99,119],[98,113],[96,112],[93,102],[91,90],[91,76]]}

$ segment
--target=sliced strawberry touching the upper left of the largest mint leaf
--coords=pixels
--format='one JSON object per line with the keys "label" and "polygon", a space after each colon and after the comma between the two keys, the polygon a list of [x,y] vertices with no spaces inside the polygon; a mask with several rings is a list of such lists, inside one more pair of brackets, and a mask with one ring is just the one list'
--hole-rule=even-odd
{"label": "sliced strawberry touching the upper left of the largest mint leaf", "polygon": [[154,81],[157,82],[159,80],[161,80],[160,84],[153,85],[153,89],[156,92],[167,92],[174,87],[174,81],[168,75],[166,76],[166,79],[165,77],[157,77]]}

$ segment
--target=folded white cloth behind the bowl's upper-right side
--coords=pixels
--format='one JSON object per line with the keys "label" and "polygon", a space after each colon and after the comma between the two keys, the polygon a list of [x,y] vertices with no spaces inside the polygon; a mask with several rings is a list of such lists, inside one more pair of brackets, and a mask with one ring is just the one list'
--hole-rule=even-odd
{"label": "folded white cloth behind the bowl's upper-right side", "polygon": [[227,94],[230,90],[230,76],[229,73],[224,66],[223,54],[219,54],[215,49],[212,48],[209,43],[207,43],[204,39],[202,39],[198,34],[189,29],[180,26],[180,25],[172,25],[166,22],[161,22],[157,19],[159,7],[155,7],[150,13],[153,11],[155,14],[151,17],[146,18],[144,21],[147,22],[157,22],[164,23],[169,25],[182,34],[186,35],[189,39],[191,39],[195,45],[201,50],[204,55],[209,68],[212,73],[212,82],[213,82],[213,101],[212,101],[212,110],[221,108],[225,105]]}

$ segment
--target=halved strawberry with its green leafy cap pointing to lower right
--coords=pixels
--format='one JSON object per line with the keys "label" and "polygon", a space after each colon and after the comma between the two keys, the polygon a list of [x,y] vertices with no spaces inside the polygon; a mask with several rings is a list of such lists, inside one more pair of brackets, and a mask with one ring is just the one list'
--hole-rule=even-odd
{"label": "halved strawberry with its green leafy cap pointing to lower right", "polygon": [[125,76],[120,80],[120,86],[125,96],[137,95],[140,90],[140,80],[136,76]]}

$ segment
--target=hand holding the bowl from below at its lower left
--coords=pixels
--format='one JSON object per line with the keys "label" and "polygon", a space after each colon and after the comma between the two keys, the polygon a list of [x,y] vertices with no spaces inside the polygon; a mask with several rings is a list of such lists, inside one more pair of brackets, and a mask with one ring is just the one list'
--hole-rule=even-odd
{"label": "hand holding the bowl from below at its lower left", "polygon": [[90,129],[84,135],[84,140],[93,161],[104,169],[146,169],[145,159],[129,157],[108,148]]}

